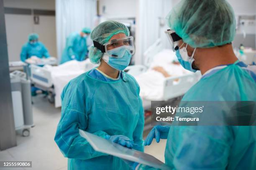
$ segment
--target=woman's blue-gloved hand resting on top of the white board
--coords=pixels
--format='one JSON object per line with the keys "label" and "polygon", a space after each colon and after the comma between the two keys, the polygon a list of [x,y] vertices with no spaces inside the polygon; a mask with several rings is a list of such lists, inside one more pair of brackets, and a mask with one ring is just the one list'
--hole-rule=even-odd
{"label": "woman's blue-gloved hand resting on top of the white board", "polygon": [[106,136],[107,140],[111,142],[118,143],[119,145],[125,146],[127,148],[133,148],[133,140],[130,140],[128,137],[124,135],[113,135],[113,136]]}

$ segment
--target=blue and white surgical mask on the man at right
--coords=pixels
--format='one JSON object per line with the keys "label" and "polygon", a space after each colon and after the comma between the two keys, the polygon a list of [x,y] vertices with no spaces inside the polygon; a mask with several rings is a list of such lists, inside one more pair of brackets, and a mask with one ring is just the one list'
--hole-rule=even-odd
{"label": "blue and white surgical mask on the man at right", "polygon": [[[184,42],[182,43],[182,45],[184,44]],[[182,47],[181,45],[181,47]],[[195,48],[196,50],[197,48]],[[195,59],[193,58],[195,55],[195,50],[193,51],[193,54],[191,57],[189,57],[188,53],[187,53],[187,45],[186,47],[182,47],[181,49],[176,50],[176,56],[180,62],[180,64],[182,65],[182,67],[184,67],[184,69],[192,71],[192,72],[196,72],[197,70],[192,68],[192,63],[195,61]]]}

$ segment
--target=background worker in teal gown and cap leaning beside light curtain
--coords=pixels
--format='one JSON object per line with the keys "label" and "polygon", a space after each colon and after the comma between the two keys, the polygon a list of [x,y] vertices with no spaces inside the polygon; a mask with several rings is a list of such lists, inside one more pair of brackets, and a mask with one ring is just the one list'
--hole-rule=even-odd
{"label": "background worker in teal gown and cap leaning beside light curtain", "polygon": [[90,33],[90,28],[84,28],[81,32],[73,32],[67,37],[60,64],[70,60],[83,61],[86,59],[88,53],[87,38],[89,38]]}

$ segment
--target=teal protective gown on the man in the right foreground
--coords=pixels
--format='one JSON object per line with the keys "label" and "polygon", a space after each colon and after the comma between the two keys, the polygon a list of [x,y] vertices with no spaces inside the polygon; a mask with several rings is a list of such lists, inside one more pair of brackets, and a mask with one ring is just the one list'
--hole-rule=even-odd
{"label": "teal protective gown on the man in the right foreground", "polygon": [[[256,75],[246,67],[235,62],[213,70],[182,101],[256,101]],[[171,126],[165,163],[178,170],[255,170],[256,126]]]}

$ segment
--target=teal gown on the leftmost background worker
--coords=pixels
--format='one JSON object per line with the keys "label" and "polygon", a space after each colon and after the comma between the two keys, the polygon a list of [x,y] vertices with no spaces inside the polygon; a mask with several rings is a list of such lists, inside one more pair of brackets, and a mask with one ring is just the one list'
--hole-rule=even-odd
{"label": "teal gown on the leftmost background worker", "polygon": [[42,42],[36,42],[35,44],[27,42],[21,48],[20,60],[25,62],[25,60],[27,60],[33,55],[35,55],[38,58],[50,57],[48,50]]}

